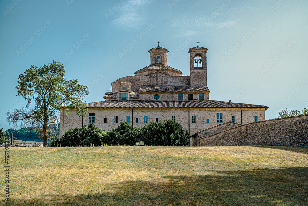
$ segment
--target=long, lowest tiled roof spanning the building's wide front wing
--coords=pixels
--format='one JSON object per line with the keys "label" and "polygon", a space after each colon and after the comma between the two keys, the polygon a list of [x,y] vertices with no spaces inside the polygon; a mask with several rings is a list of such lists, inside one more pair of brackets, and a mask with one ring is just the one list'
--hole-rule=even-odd
{"label": "long, lowest tiled roof spanning the building's wide front wing", "polygon": [[87,103],[87,108],[265,108],[264,105],[203,101],[101,101]]}

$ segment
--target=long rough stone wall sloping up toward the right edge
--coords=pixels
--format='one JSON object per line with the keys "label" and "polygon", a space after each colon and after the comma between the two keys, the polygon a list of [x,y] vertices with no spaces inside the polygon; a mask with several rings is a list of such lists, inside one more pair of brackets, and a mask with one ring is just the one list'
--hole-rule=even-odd
{"label": "long rough stone wall sloping up toward the right edge", "polygon": [[245,124],[197,140],[199,146],[308,146],[308,115]]}

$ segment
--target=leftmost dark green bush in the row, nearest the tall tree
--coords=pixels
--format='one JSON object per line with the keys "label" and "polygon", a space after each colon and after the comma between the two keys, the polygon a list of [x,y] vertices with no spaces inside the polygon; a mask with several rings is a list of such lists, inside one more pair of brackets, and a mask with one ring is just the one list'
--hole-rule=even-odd
{"label": "leftmost dark green bush in the row, nearest the tall tree", "polygon": [[96,127],[94,124],[89,126],[76,127],[64,132],[61,138],[51,141],[50,146],[60,145],[63,147],[68,146],[90,146],[90,144],[101,145],[101,142],[109,142],[108,132],[101,128]]}

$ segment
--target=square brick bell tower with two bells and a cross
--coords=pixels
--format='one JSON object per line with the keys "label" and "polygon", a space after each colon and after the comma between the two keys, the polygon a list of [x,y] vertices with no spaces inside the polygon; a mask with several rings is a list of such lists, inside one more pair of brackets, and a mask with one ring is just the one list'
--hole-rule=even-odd
{"label": "square brick bell tower with two bells and a cross", "polygon": [[206,53],[205,47],[190,48],[190,86],[206,86]]}

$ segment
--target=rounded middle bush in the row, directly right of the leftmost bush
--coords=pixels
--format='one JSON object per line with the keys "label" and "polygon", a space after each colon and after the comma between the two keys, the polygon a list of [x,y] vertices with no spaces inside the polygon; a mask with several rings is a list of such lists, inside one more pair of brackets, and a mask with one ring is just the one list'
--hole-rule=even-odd
{"label": "rounded middle bush in the row, directly right of the leftmost bush", "polygon": [[135,145],[142,137],[140,128],[132,128],[132,125],[127,122],[121,122],[118,127],[112,128],[109,132],[111,145],[125,144]]}

